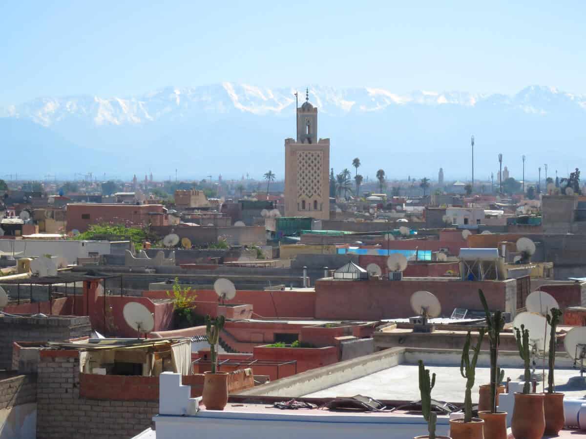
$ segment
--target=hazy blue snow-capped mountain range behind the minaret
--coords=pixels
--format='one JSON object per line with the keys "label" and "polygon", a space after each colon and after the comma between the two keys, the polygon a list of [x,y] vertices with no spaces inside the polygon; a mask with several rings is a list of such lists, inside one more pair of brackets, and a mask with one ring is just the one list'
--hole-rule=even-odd
{"label": "hazy blue snow-capped mountain range behind the minaret", "polygon": [[[305,88],[236,83],[124,98],[38,98],[0,108],[0,146],[9,147],[5,166],[21,173],[73,173],[81,159],[119,175],[152,169],[156,176],[158,167],[162,177],[178,167],[200,177],[261,176],[272,169],[279,179],[283,140],[295,133],[295,91],[301,105]],[[538,163],[565,172],[580,167],[586,140],[586,95],[553,87],[503,95],[314,85],[309,101],[318,107],[318,136],[331,138],[331,166],[349,167],[359,156],[364,176],[383,168],[398,178],[433,179],[441,166],[446,180],[466,178],[471,135],[476,175],[496,173],[499,152],[514,175],[523,154],[529,176]]]}

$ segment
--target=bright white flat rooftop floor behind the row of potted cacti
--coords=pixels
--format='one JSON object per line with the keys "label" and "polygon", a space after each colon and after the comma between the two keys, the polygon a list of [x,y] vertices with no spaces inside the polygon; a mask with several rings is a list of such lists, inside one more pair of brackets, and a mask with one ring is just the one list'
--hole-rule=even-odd
{"label": "bright white flat rooftop floor behind the row of potted cacti", "polygon": [[[447,402],[464,401],[466,379],[462,378],[459,367],[425,365],[430,372],[436,373],[435,387],[431,397]],[[503,368],[505,379],[522,380],[523,369]],[[536,373],[540,373],[536,370]],[[472,402],[478,402],[478,386],[486,384],[490,379],[490,368],[476,368],[475,385],[472,388]],[[586,381],[580,379],[576,369],[556,369],[556,391],[565,393],[566,397],[581,398],[586,396]],[[417,365],[397,365],[370,375],[357,378],[346,383],[309,393],[306,397],[336,397],[364,395],[375,399],[410,400],[420,399],[419,369]],[[542,384],[538,380],[537,392],[541,392]],[[546,368],[547,389],[547,368]]]}

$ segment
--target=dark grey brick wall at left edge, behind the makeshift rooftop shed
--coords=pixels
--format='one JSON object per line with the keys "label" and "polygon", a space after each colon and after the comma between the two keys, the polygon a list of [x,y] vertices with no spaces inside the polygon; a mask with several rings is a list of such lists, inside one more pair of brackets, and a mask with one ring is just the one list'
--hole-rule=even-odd
{"label": "dark grey brick wall at left edge, behind the makeshift rooftop shed", "polygon": [[15,341],[64,341],[90,335],[87,317],[0,318],[0,369],[12,368]]}

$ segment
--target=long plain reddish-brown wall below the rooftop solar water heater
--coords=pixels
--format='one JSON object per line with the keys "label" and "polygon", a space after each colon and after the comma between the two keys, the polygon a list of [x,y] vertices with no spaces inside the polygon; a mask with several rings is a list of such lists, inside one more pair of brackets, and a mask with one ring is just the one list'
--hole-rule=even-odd
{"label": "long plain reddish-brown wall below the rooftop solar water heater", "polygon": [[504,282],[469,282],[452,280],[356,280],[316,281],[316,318],[347,320],[379,320],[413,315],[410,297],[424,290],[440,300],[442,314],[454,308],[482,309],[478,289],[485,293],[490,309],[505,310]]}

